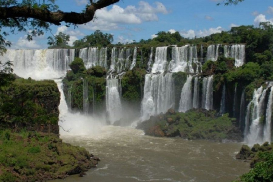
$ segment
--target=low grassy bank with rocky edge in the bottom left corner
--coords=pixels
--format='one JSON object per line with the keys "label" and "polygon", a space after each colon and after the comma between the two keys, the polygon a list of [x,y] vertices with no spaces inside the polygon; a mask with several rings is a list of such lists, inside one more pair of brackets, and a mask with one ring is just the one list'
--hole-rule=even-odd
{"label": "low grassy bank with rocky edge in the bottom left corner", "polygon": [[[10,139],[6,134],[10,134]],[[71,174],[77,166],[81,171],[89,162],[89,153],[81,147],[62,143],[54,134],[0,130],[0,181],[43,181]]]}

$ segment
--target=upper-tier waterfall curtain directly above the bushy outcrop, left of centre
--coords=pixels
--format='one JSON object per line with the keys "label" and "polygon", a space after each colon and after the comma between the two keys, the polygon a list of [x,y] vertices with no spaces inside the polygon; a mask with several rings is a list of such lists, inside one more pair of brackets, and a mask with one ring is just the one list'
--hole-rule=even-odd
{"label": "upper-tier waterfall curtain directly above the bushy outcrop, left of centre", "polygon": [[85,67],[102,66],[107,68],[107,48],[83,48],[79,50],[79,58],[83,59]]}

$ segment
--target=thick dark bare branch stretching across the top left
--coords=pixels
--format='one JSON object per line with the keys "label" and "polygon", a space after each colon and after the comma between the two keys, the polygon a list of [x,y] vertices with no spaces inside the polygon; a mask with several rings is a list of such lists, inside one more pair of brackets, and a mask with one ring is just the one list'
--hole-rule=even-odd
{"label": "thick dark bare branch stretching across the top left", "polygon": [[54,25],[61,25],[61,22],[84,24],[90,22],[94,18],[96,10],[119,1],[120,0],[99,0],[96,3],[87,6],[84,13],[62,11],[51,12],[48,9],[31,8],[29,6],[0,7],[0,19],[18,19],[22,17],[39,19]]}

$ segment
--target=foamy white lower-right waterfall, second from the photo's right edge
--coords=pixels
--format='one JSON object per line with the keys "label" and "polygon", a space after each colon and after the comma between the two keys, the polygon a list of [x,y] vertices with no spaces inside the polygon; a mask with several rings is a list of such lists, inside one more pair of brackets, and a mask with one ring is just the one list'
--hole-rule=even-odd
{"label": "foamy white lower-right waterfall, second from the photo's right edge", "polygon": [[[245,141],[248,142],[249,144],[263,142],[262,135],[261,135],[262,123],[260,119],[262,119],[262,115],[263,115],[266,91],[267,89],[263,90],[262,86],[258,89],[255,89],[253,93],[253,99],[248,104],[248,108],[247,108],[248,111],[247,111],[245,122],[246,122],[246,127],[249,126],[248,123],[250,123],[250,126],[249,126],[249,129],[245,130],[247,133],[244,133],[244,138],[245,138]],[[250,113],[251,113],[251,118],[250,118]]]}

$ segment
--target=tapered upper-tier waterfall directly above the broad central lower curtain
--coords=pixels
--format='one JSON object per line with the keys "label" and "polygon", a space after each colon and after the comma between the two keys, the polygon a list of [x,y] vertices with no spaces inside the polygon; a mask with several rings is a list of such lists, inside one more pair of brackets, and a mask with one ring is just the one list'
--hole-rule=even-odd
{"label": "tapered upper-tier waterfall directly above the broad central lower curtain", "polygon": [[152,67],[152,73],[163,73],[167,66],[167,46],[157,47],[155,53],[155,60]]}

